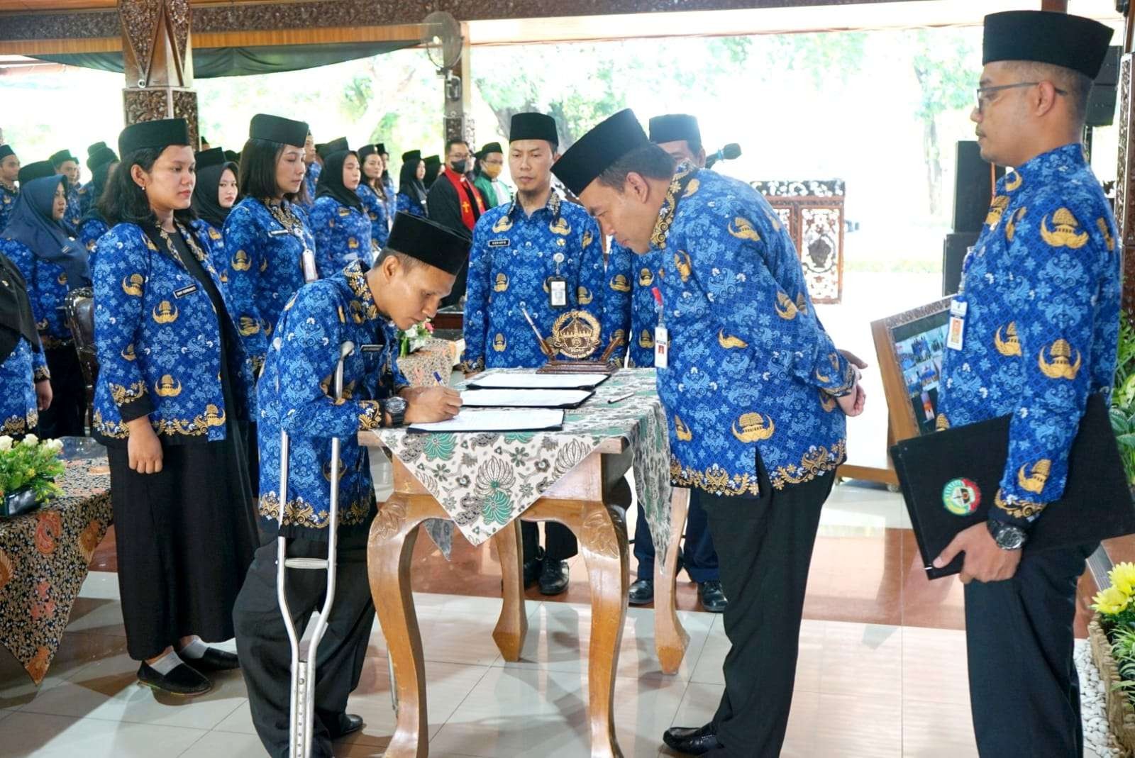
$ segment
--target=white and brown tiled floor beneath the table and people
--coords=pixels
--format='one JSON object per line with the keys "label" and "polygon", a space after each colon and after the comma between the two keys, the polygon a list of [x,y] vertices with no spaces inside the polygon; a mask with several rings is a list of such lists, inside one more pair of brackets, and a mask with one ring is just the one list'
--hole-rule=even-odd
{"label": "white and brown tiled floor beneath the table and people", "polygon": [[[631,516],[633,521],[633,515]],[[631,524],[633,529],[633,524]],[[586,655],[590,635],[582,559],[569,592],[535,592],[518,663],[491,639],[499,572],[487,547],[457,539],[445,563],[419,541],[414,587],[426,651],[434,758],[588,755]],[[107,567],[112,544],[95,565]],[[884,489],[838,487],[824,509],[784,756],[966,758],[975,756],[965,673],[961,596],[927,582],[901,500]],[[100,564],[100,561],[102,563]],[[684,576],[683,576],[684,579]],[[723,690],[729,649],[721,616],[698,610],[682,582],[690,646],[676,675],[654,655],[653,612],[631,608],[620,654],[615,721],[623,753],[670,756],[671,725],[706,722]],[[36,690],[0,665],[0,756],[192,758],[263,756],[239,673],[219,675],[193,701],[140,687],[125,652],[117,575],[93,571],[62,648]],[[351,710],[367,721],[337,756],[380,756],[394,728],[386,647],[375,628]],[[944,715],[944,717],[943,717]]]}

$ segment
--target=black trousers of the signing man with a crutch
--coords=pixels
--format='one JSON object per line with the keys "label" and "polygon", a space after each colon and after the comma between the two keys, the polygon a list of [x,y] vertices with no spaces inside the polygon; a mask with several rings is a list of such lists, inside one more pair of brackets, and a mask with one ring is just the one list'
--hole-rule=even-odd
{"label": "black trousers of the signing man with a crutch", "polygon": [[[312,756],[331,757],[331,740],[346,726],[347,697],[356,687],[367,659],[367,643],[375,624],[367,578],[368,529],[339,534],[335,605],[316,664],[316,714]],[[327,544],[294,539],[288,557],[326,558]],[[296,633],[323,603],[327,574],[289,570],[288,605]],[[236,649],[249,688],[252,723],[272,758],[287,758],[292,698],[292,649],[276,600],[276,534],[266,534],[257,550],[233,610]]]}

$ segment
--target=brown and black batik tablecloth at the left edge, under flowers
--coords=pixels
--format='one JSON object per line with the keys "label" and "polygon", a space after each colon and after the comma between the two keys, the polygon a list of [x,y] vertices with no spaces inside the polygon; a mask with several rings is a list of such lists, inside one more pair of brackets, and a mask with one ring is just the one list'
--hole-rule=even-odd
{"label": "brown and black batik tablecloth at the left edge, under flowers", "polygon": [[67,461],[64,497],[0,520],[0,645],[39,684],[111,521],[106,457]]}

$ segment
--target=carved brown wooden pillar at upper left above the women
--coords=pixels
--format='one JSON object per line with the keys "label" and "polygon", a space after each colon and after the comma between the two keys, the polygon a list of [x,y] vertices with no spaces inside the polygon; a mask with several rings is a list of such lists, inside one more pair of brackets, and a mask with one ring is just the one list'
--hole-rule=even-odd
{"label": "carved brown wooden pillar at upper left above the women", "polygon": [[197,145],[190,0],[118,0],[123,31],[126,124],[184,118]]}

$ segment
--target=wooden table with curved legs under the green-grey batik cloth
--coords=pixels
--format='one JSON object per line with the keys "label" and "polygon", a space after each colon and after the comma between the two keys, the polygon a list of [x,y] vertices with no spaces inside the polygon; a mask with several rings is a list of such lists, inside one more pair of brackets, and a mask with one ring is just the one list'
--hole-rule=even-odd
{"label": "wooden table with curved legs under the green-grey batik cloth", "polygon": [[[376,432],[360,440],[379,446]],[[591,641],[588,652],[589,731],[591,756],[616,758],[614,726],[615,672],[627,617],[629,586],[627,525],[621,508],[611,505],[614,486],[632,468],[633,450],[625,438],[603,439],[571,471],[527,509],[490,538],[501,561],[504,604],[493,639],[505,660],[520,659],[528,616],[524,613],[520,520],[556,521],[579,539],[591,587]],[[394,492],[379,506],[370,530],[369,576],[375,607],[386,637],[397,694],[397,727],[387,758],[429,755],[426,718],[426,671],[421,634],[414,612],[410,565],[419,527],[427,519],[451,520],[449,513],[410,469],[392,455]],[[665,561],[655,567],[655,641],[665,673],[675,673],[689,635],[674,608],[678,545],[686,523],[689,491],[674,489]]]}

